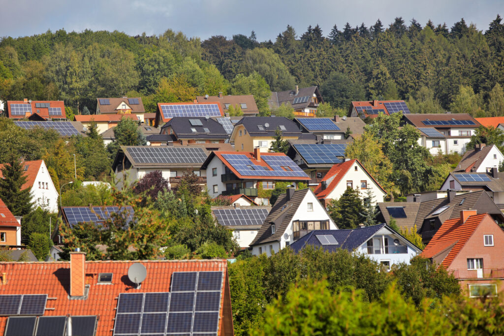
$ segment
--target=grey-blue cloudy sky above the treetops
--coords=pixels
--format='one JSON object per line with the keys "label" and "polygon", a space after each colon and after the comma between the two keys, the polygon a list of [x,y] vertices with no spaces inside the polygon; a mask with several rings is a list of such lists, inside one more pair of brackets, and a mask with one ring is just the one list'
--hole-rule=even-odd
{"label": "grey-blue cloudy sky above the treetops", "polygon": [[232,37],[256,31],[259,41],[272,39],[287,25],[298,35],[319,24],[327,36],[336,24],[369,27],[380,19],[385,27],[402,17],[425,25],[464,18],[486,30],[504,0],[0,0],[0,37],[27,36],[65,29],[118,30],[129,35],[158,35],[172,29],[202,40],[212,35]]}

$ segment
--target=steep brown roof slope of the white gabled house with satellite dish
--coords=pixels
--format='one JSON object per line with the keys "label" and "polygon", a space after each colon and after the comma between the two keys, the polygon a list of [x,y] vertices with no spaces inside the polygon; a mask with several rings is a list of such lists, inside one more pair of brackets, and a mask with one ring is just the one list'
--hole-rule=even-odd
{"label": "steep brown roof slope of the white gabled house with satellite dish", "polygon": [[[264,220],[261,229],[259,229],[256,238],[250,243],[250,246],[280,240],[308,192],[312,192],[310,188],[295,190],[289,200],[287,200],[287,193],[278,196],[268,217]],[[273,234],[271,233],[272,224],[275,224],[275,233]]]}

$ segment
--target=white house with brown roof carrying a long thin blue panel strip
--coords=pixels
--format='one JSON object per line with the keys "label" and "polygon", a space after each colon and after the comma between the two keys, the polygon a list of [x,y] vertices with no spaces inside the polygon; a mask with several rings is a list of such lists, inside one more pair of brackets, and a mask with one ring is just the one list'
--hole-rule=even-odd
{"label": "white house with brown roof carrying a long thin blue panel strip", "polygon": [[[471,136],[480,126],[478,120],[467,113],[404,114],[403,122],[418,129],[422,128],[423,130],[420,130],[424,135],[425,132],[430,133],[432,140],[429,139],[425,144],[420,144],[425,145],[434,154],[439,150],[446,154],[452,152],[463,154],[466,151],[467,143],[471,141]],[[432,128],[436,132],[432,131]],[[437,133],[441,133],[445,137],[444,142]],[[436,148],[437,144],[439,147]],[[442,146],[443,144],[445,147]]]}

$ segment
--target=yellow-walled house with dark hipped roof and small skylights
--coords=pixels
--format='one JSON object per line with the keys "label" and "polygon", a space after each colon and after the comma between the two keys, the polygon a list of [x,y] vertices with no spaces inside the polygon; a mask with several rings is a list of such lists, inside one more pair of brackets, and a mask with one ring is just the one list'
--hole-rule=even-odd
{"label": "yellow-walled house with dark hipped roof and small skylights", "polygon": [[254,152],[259,148],[267,153],[275,141],[277,128],[283,140],[315,139],[311,133],[302,133],[299,126],[286,117],[243,117],[234,125],[229,142],[238,152]]}

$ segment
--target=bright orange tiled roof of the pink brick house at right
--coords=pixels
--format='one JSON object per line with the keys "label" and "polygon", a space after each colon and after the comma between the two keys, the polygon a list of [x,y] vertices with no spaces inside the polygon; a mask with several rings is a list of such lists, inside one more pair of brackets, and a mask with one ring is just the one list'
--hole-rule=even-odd
{"label": "bright orange tiled roof of the pink brick house at right", "polygon": [[450,252],[441,262],[445,268],[448,268],[453,259],[455,259],[455,256],[457,256],[462,247],[474,233],[474,230],[476,230],[478,225],[486,216],[489,215],[481,214],[469,216],[464,223],[462,223],[460,217],[445,221],[427,244],[421,256],[424,258],[432,258],[444,251],[447,251],[447,249],[450,249]]}

